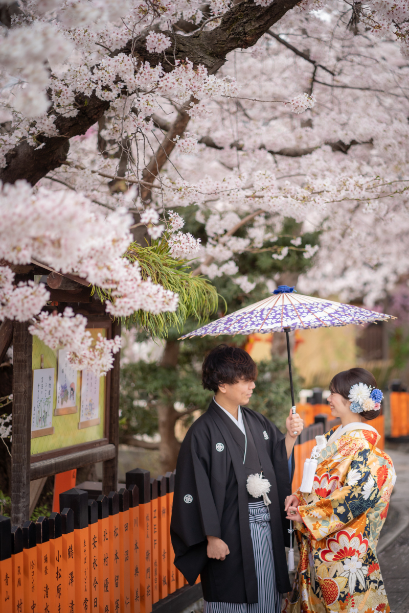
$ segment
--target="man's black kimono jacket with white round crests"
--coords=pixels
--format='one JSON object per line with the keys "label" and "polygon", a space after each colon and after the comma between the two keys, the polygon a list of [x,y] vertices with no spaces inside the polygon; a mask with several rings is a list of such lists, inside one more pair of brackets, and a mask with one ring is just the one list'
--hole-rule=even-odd
{"label": "man's black kimono jacket with white round crests", "polygon": [[[170,535],[175,566],[193,585],[199,574],[208,602],[257,603],[258,587],[248,513],[248,474],[269,479],[270,525],[277,589],[291,589],[285,544],[289,521],[284,500],[291,494],[285,435],[256,411],[242,407],[245,436],[212,400],[188,430],[177,461]],[[294,466],[294,460],[292,461]],[[262,499],[259,499],[262,500]],[[226,559],[207,557],[206,536],[218,536]]]}

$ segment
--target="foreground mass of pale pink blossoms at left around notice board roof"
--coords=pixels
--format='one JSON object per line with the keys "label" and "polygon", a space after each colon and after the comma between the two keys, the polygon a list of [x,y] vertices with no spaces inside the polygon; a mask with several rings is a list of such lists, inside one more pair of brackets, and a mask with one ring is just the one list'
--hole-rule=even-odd
{"label": "foreground mass of pale pink blossoms at left around notice board roof", "polygon": [[[155,213],[143,213],[146,223],[158,220]],[[150,279],[143,280],[139,265],[123,258],[132,241],[132,218],[123,209],[106,215],[75,192],[33,189],[25,181],[18,181],[2,186],[0,215],[0,257],[8,262],[29,264],[34,259],[61,273],[77,273],[110,292],[112,301],[107,301],[106,310],[113,316],[128,316],[137,310],[155,314],[176,310],[177,294]],[[0,319],[27,321],[40,313],[50,294],[44,284],[36,286],[32,281],[14,287],[13,278],[9,267],[0,267]],[[30,330],[37,330],[37,335],[42,330],[41,338],[48,346],[71,347],[69,351],[79,356],[75,358],[78,368],[79,364],[91,368],[94,360],[94,368],[107,370],[108,354],[117,345],[101,340],[90,349],[85,318],[72,318],[71,311],[57,318],[40,313],[39,318],[40,323]]]}

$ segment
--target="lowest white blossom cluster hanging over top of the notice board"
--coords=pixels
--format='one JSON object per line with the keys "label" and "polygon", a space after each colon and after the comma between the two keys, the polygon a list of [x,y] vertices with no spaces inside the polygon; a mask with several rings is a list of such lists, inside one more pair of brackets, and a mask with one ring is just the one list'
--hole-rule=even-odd
{"label": "lowest white blossom cluster hanging over top of the notice board", "polygon": [[120,351],[121,338],[112,340],[98,334],[93,344],[91,333],[85,329],[86,318],[66,307],[64,313],[49,314],[42,311],[38,320],[29,326],[29,332],[36,335],[48,347],[58,349],[61,346],[69,352],[68,360],[77,370],[91,370],[97,376],[106,375],[113,366],[113,354]]}

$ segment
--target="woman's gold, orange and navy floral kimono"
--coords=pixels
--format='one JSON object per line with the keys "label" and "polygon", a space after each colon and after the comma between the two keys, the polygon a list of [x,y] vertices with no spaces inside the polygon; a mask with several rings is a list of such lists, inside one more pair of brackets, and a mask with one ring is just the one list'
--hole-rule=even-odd
{"label": "woman's gold, orange and navy floral kimono", "polygon": [[346,432],[320,452],[312,493],[294,492],[304,524],[286,613],[389,613],[375,547],[396,474],[379,439],[364,424]]}

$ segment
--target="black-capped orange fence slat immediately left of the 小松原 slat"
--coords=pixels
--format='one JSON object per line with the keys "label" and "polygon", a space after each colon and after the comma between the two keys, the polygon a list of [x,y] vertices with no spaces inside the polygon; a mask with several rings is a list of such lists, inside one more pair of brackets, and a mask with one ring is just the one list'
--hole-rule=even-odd
{"label": "black-capped orange fence slat immediately left of the \u5c0f\u677e\u539f slat", "polygon": [[50,531],[47,517],[41,516],[36,521],[37,540],[37,611],[52,613],[55,611],[55,599],[52,598],[52,579],[50,577]]}

